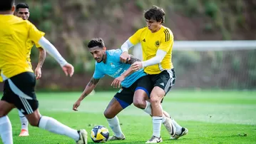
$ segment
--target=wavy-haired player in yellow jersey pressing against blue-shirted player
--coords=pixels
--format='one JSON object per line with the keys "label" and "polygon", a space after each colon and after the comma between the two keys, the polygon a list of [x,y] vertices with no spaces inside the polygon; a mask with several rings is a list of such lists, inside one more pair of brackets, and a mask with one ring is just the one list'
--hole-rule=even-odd
{"label": "wavy-haired player in yellow jersey pressing against blue-shirted player", "polygon": [[[146,143],[160,143],[160,127],[163,121],[163,109],[161,101],[163,97],[170,91],[170,88],[175,83],[175,71],[173,68],[172,49],[173,49],[173,33],[167,27],[163,26],[165,12],[158,6],[153,6],[148,11],[145,11],[144,17],[147,27],[139,29],[123,43],[121,49],[121,61],[130,60],[128,48],[137,43],[141,43],[143,51],[143,61],[133,63],[131,68],[138,71],[144,68],[145,73],[148,73],[153,90],[150,93],[150,103],[153,110],[153,136]],[[168,119],[167,119],[168,120]],[[170,128],[175,131],[171,135],[171,139],[178,139],[180,136],[188,133],[187,128],[183,128],[178,123],[170,119],[175,128]],[[170,133],[171,134],[171,133]]]}

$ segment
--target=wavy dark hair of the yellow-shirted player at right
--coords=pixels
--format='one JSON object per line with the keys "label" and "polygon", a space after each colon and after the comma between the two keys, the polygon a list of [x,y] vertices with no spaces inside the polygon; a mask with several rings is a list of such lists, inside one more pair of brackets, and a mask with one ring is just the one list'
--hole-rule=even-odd
{"label": "wavy dark hair of the yellow-shirted player at right", "polygon": [[163,8],[160,8],[158,6],[152,6],[150,9],[145,11],[144,14],[145,19],[152,19],[155,21],[162,21],[162,23],[165,21],[165,11],[163,11]]}

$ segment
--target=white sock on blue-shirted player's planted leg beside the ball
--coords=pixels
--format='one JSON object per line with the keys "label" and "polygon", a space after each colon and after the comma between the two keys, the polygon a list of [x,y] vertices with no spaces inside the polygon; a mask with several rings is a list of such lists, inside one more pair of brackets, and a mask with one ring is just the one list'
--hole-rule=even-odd
{"label": "white sock on blue-shirted player's planted leg beside the ball", "polygon": [[119,125],[119,120],[118,117],[115,116],[114,118],[108,119],[108,125],[111,128],[111,130],[113,131],[113,133],[116,135],[116,137],[120,138],[121,135],[123,134],[121,127]]}

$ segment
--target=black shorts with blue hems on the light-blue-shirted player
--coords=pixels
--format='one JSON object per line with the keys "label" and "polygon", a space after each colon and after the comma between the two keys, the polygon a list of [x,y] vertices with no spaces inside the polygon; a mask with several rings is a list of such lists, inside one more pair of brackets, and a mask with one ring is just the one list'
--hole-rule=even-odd
{"label": "black shorts with blue hems on the light-blue-shirted player", "polygon": [[[143,81],[142,81],[143,80]],[[135,81],[129,88],[122,87],[118,93],[114,96],[116,100],[120,103],[122,108],[126,108],[133,103],[133,96],[135,91],[141,89],[147,93],[148,97],[152,91],[152,85],[150,79],[147,76],[143,76]]]}

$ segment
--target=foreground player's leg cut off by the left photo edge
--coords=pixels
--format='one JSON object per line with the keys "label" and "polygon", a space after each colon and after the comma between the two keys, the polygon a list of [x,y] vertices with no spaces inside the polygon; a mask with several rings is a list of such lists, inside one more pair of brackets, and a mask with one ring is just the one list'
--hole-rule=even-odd
{"label": "foreground player's leg cut off by the left photo edge", "polygon": [[15,108],[15,106],[12,103],[13,98],[8,96],[8,94],[7,91],[4,91],[4,96],[0,101],[0,136],[4,144],[13,143],[11,121],[7,114]]}

